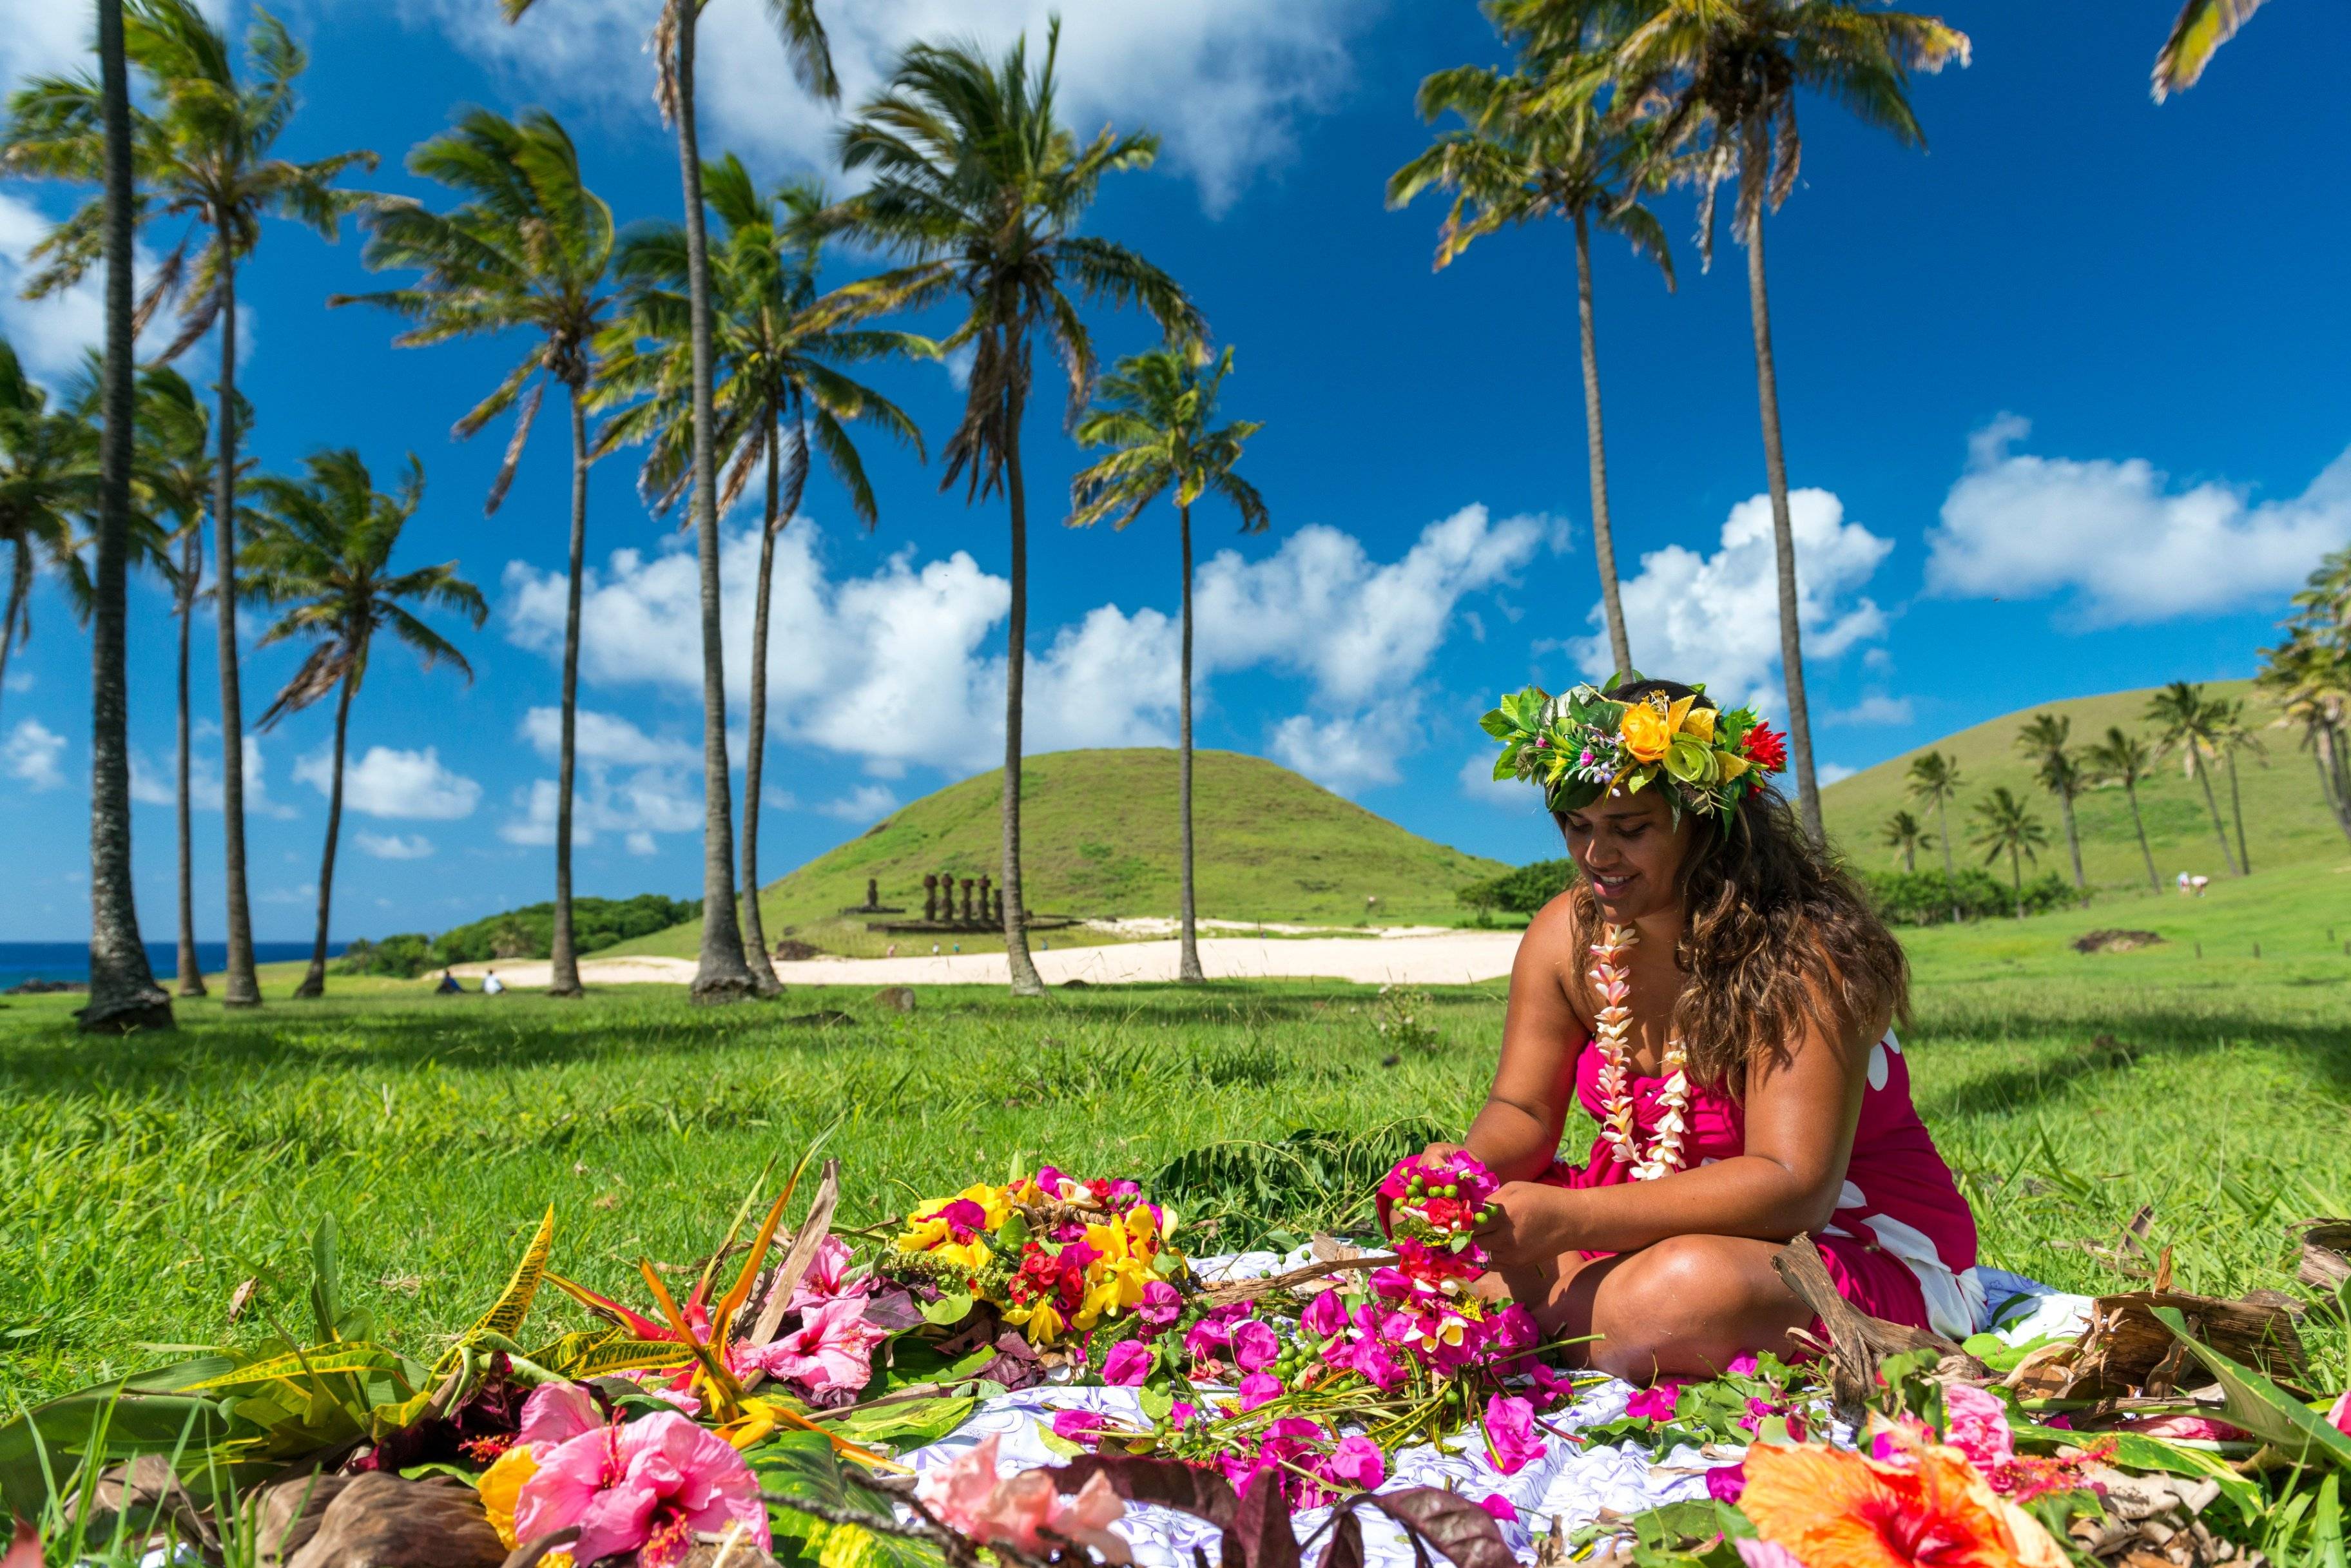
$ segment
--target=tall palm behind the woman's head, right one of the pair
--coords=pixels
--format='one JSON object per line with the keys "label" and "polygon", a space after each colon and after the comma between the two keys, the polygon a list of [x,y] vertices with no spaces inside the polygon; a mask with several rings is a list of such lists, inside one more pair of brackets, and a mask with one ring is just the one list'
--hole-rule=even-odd
{"label": "tall palm behind the woman's head, right one of the pair", "polygon": [[1824,842],[1813,776],[1813,719],[1803,693],[1803,637],[1796,621],[1796,536],[1787,510],[1787,454],[1780,442],[1780,381],[1773,369],[1763,216],[1796,188],[1803,143],[1796,92],[1843,103],[1902,146],[1925,146],[1909,106],[1914,71],[1968,63],[1968,35],[1935,16],[1888,12],[1864,0],[1552,0],[1575,16],[1622,12],[1610,73],[1615,101],[1650,108],[1655,158],[1681,158],[1700,186],[1700,256],[1714,259],[1714,195],[1737,181],[1733,233],[1747,244],[1747,308],[1754,320],[1756,395],[1763,414],[1763,477],[1770,487],[1773,552],[1780,569],[1780,670],[1787,677],[1787,731],[1796,757],[1803,825]]}

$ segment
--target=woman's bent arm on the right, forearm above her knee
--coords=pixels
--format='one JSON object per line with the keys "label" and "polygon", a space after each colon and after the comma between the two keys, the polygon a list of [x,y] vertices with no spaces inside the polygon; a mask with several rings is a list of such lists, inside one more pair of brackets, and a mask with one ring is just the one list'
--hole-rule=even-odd
{"label": "woman's bent arm on the right, forearm above her knee", "polygon": [[1846,1037],[1808,1027],[1784,1060],[1749,1065],[1744,1154],[1655,1182],[1578,1192],[1512,1171],[1519,1180],[1495,1194],[1498,1213],[1481,1241],[1507,1269],[1578,1248],[1632,1253],[1667,1237],[1787,1241],[1820,1229],[1846,1185],[1869,1048],[1886,1030],[1883,1018],[1869,1023]]}

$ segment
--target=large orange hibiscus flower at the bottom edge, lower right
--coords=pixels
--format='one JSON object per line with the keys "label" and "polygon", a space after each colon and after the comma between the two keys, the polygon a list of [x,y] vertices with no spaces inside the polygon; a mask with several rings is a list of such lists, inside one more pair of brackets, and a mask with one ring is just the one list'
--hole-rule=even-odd
{"label": "large orange hibiscus flower at the bottom edge, lower right", "polygon": [[2031,1514],[2001,1500],[1956,1450],[1902,1462],[1756,1443],[1740,1512],[1806,1568],[2064,1568]]}

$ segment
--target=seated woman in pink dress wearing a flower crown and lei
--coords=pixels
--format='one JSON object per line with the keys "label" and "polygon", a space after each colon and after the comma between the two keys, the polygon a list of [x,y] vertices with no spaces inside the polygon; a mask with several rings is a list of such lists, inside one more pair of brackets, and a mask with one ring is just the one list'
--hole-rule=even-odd
{"label": "seated woman in pink dress wearing a flower crown and lei", "polygon": [[[1523,691],[1486,729],[1582,872],[1519,945],[1465,1145],[1505,1182],[1498,1284],[1634,1382],[1787,1352],[1813,1312],[1770,1258],[1796,1234],[1864,1312],[1970,1333],[1975,1220],[1890,1032],[1909,966],[1766,785],[1782,738],[1639,677]],[[1575,1100],[1601,1135],[1566,1166]]]}

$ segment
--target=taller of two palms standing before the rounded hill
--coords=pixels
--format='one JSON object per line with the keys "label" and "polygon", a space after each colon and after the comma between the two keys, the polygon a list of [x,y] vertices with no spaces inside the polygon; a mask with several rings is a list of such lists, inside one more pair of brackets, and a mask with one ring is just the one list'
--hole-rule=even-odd
{"label": "taller of two palms standing before the rounded hill", "polygon": [[1093,390],[1093,341],[1067,284],[1089,299],[1140,303],[1171,343],[1206,336],[1199,310],[1173,277],[1124,244],[1074,233],[1103,176],[1150,167],[1159,139],[1112,136],[1105,127],[1081,146],[1056,110],[1058,54],[1058,21],[1046,31],[1044,71],[1037,73],[1025,38],[994,68],[976,45],[915,45],[839,139],[842,167],[872,176],[839,221],[868,244],[910,259],[842,294],[893,306],[959,294],[969,306],[964,322],[940,341],[945,350],[973,350],[964,418],[947,440],[940,487],[966,480],[966,501],[1002,489],[1011,517],[1002,889],[1016,997],[1044,994],[1020,900],[1020,689],[1027,675],[1020,418],[1034,341],[1044,336],[1060,357],[1074,421]]}

